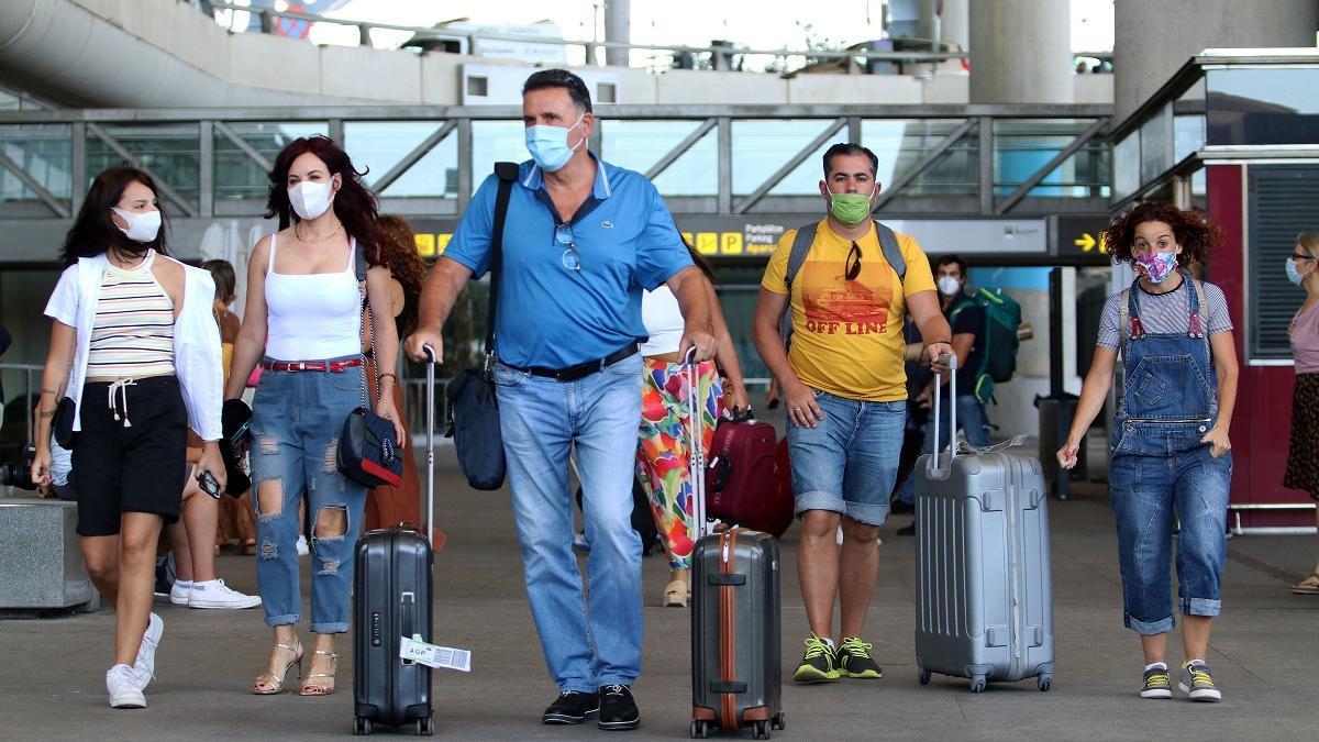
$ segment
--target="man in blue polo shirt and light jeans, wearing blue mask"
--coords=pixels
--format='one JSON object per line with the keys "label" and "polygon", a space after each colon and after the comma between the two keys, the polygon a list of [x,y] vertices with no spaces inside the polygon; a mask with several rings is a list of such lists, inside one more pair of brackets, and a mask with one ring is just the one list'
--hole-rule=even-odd
{"label": "man in blue polo shirt and light jeans, wearing blue mask", "polygon": [[[641,540],[632,479],[645,339],[641,290],[667,284],[686,331],[682,351],[714,356],[710,306],[673,217],[644,176],[587,149],[595,116],[576,75],[543,70],[522,87],[532,160],[504,226],[495,337],[500,428],[532,617],[559,697],[545,724],[636,729],[641,673]],[[467,281],[491,265],[499,180],[472,197],[421,297],[406,343],[442,349],[441,327]],[[584,490],[586,602],[572,555],[568,452]]]}

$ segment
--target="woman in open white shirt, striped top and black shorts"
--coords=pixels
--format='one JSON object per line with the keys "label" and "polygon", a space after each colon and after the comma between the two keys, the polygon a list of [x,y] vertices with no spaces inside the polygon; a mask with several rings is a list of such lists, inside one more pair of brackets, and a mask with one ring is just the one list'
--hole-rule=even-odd
{"label": "woman in open white shirt, striped top and black shorts", "polygon": [[[51,425],[75,436],[82,552],[116,613],[106,673],[113,708],[146,705],[165,630],[150,613],[156,543],[178,520],[187,428],[204,441],[199,477],[224,486],[215,284],[165,255],[156,193],[138,169],[103,172],[65,239],[66,269],[46,305],[53,323],[32,463],[33,481],[47,483]],[[57,420],[59,405],[71,411]]]}

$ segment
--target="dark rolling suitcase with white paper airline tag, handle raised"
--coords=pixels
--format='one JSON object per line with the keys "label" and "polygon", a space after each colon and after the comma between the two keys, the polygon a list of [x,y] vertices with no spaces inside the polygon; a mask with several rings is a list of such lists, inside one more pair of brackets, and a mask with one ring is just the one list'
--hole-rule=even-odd
{"label": "dark rolling suitcase with white paper airline tag, handle raised", "polygon": [[[430,349],[426,349],[430,351]],[[435,523],[435,364],[426,363],[426,523]],[[434,733],[430,668],[404,660],[404,636],[430,642],[430,539],[415,527],[384,528],[357,540],[352,584],[353,734],[371,734],[377,724],[414,726]]]}

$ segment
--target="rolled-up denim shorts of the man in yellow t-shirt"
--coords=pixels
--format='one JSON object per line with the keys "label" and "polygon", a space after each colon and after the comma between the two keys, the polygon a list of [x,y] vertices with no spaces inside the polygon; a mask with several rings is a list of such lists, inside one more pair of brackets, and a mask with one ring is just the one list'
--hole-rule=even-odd
{"label": "rolled-up denim shorts of the man in yellow t-shirt", "polygon": [[898,475],[906,401],[860,401],[815,391],[824,420],[815,428],[787,426],[797,515],[840,512],[882,525]]}

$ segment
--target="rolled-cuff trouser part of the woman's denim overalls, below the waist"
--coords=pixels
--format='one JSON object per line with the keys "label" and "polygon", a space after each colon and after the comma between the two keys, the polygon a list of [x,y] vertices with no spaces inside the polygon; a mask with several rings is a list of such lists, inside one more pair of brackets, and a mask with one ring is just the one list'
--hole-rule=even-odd
{"label": "rolled-cuff trouser part of the woman's denim overalls, below the waist", "polygon": [[[1175,623],[1169,588],[1174,510],[1181,523],[1178,605],[1186,615],[1219,614],[1232,454],[1213,458],[1207,445],[1177,450],[1167,445],[1169,436],[1150,429],[1163,426],[1142,428],[1117,433],[1109,498],[1117,515],[1124,621],[1128,628],[1151,635],[1171,631]],[[1170,448],[1174,453],[1166,453]]]}

